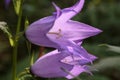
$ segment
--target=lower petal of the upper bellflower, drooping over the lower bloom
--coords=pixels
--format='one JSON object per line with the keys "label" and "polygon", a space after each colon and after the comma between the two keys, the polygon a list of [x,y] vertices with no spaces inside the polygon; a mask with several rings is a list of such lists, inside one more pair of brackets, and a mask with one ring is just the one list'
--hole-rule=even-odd
{"label": "lower petal of the upper bellflower, drooping over the lower bloom", "polygon": [[71,56],[84,57],[91,61],[90,56],[88,55],[88,52],[84,48],[77,45],[75,42],[71,40],[67,40],[63,37],[56,38],[50,34],[47,36],[51,41],[55,42],[60,46],[58,50],[61,51],[62,53],[69,54]]}

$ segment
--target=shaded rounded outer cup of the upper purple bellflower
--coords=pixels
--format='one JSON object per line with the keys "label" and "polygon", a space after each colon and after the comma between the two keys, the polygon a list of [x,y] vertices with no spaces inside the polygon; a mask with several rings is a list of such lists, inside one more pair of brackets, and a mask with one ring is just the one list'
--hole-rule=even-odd
{"label": "shaded rounded outer cup of the upper purple bellflower", "polygon": [[46,47],[55,47],[58,45],[47,38],[46,33],[54,24],[55,16],[42,18],[32,23],[26,30],[27,39],[33,44]]}

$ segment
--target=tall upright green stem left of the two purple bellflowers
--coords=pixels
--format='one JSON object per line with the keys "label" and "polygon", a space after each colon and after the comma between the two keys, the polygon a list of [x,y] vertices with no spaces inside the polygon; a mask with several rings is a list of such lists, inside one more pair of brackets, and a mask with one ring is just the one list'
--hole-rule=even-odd
{"label": "tall upright green stem left of the two purple bellflowers", "polygon": [[18,23],[16,29],[16,35],[14,38],[14,46],[13,46],[13,58],[12,58],[12,80],[17,80],[17,52],[18,52],[18,33],[20,32],[21,20],[22,20],[22,3],[20,4],[20,11],[18,15]]}

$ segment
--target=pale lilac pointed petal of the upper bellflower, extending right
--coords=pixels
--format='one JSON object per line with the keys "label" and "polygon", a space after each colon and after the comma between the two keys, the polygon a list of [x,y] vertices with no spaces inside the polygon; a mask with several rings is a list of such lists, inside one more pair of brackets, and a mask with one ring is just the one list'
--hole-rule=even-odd
{"label": "pale lilac pointed petal of the upper bellflower, extending right", "polygon": [[[61,32],[59,32],[59,30],[61,30]],[[61,35],[59,38],[56,38],[58,35],[47,34],[49,38],[52,37],[55,40],[64,38],[75,42],[77,41],[77,43],[79,43],[83,39],[95,36],[102,31],[90,25],[69,20],[64,24],[54,25],[49,32],[57,32],[59,35]]]}

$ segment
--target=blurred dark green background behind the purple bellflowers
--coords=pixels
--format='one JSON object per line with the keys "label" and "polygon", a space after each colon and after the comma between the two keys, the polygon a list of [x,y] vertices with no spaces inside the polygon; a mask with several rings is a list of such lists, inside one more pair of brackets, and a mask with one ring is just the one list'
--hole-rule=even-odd
{"label": "blurred dark green background behind the purple bellflowers", "polygon": [[[26,17],[32,23],[51,15],[55,11],[51,4],[52,1],[61,8],[65,8],[73,5],[77,0],[24,0],[21,31],[24,28]],[[93,76],[82,73],[81,80],[120,80],[120,53],[98,46],[104,43],[120,46],[120,0],[86,0],[82,12],[73,19],[103,30],[101,34],[86,39],[83,43],[88,52],[98,57],[93,65],[98,71],[94,71]],[[5,7],[4,0],[0,0],[0,21],[7,22],[12,33],[15,33],[17,15],[14,12],[12,2],[8,7]],[[23,36],[19,42],[18,73],[29,67],[29,54],[26,50],[25,40]],[[34,48],[38,51],[39,47],[34,45]],[[46,50],[51,49],[46,48]],[[10,80],[11,54],[12,48],[8,38],[0,30],[0,80]]]}

